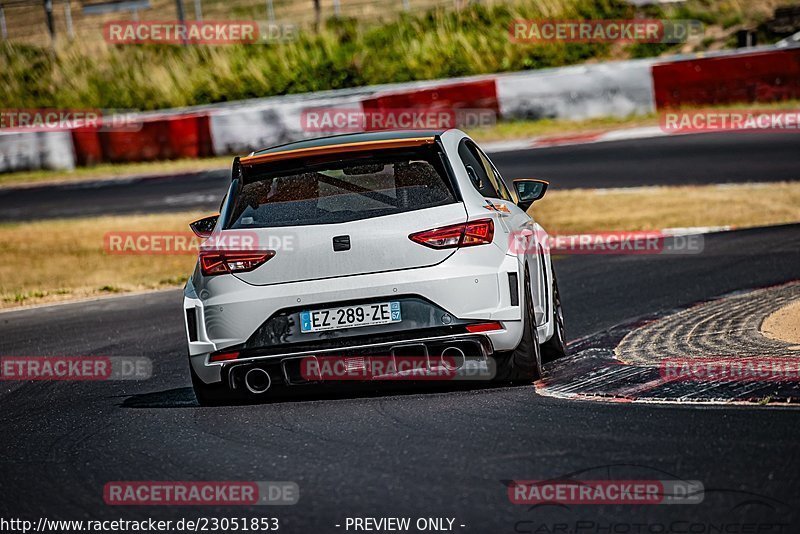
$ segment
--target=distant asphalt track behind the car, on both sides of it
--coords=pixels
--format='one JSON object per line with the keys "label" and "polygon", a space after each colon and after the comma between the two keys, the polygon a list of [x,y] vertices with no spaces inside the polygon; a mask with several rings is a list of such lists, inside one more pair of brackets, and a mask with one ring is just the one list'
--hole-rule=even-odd
{"label": "distant asphalt track behind the car, on both sides of it", "polygon": [[[556,188],[798,180],[800,135],[680,135],[503,152],[506,179],[544,178]],[[0,189],[0,221],[216,210],[227,169],[182,176]]]}

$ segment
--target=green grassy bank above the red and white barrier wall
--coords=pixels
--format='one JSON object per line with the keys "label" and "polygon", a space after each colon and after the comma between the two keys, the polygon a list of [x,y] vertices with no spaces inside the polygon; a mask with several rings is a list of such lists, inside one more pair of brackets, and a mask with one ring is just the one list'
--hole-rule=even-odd
{"label": "green grassy bank above the red and white barrier wall", "polygon": [[[697,18],[721,28],[763,17],[772,3],[688,0],[640,13]],[[761,11],[754,14],[754,6]],[[681,45],[520,44],[508,36],[514,19],[625,19],[636,13],[623,0],[540,0],[440,8],[374,24],[330,19],[318,33],[306,29],[280,44],[107,46],[80,40],[52,50],[4,42],[0,95],[6,108],[152,110],[686,51]]]}

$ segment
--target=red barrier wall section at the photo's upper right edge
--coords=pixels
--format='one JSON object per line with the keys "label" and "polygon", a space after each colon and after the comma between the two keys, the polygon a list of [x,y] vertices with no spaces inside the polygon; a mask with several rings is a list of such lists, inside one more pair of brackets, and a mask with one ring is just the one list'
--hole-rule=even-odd
{"label": "red barrier wall section at the photo's upper right edge", "polygon": [[800,98],[800,49],[653,66],[658,109]]}

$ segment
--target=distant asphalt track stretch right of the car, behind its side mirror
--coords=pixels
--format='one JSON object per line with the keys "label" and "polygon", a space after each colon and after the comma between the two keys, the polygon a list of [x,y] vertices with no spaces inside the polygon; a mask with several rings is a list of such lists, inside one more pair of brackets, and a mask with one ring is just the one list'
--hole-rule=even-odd
{"label": "distant asphalt track stretch right of the car, behind its side mirror", "polygon": [[[556,187],[632,187],[798,180],[800,136],[679,135],[508,152],[491,156],[505,178]],[[531,176],[531,173],[534,173]]]}

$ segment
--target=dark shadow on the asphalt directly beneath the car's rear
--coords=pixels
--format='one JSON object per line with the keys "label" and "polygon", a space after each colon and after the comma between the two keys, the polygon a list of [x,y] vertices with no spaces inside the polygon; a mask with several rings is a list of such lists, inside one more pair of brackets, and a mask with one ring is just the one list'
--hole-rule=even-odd
{"label": "dark shadow on the asphalt directly beneath the car's rear", "polygon": [[[254,399],[239,405],[279,404],[284,402],[308,402],[320,400],[363,399],[396,395],[419,395],[432,393],[451,393],[457,391],[475,391],[509,387],[509,384],[490,382],[442,382],[442,383],[382,383],[349,384],[347,386],[309,385],[270,391],[263,400]],[[140,393],[125,398],[119,405],[121,408],[197,408],[191,387],[173,388],[152,393]]]}

